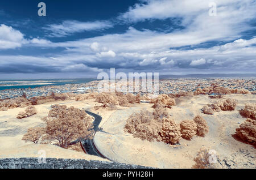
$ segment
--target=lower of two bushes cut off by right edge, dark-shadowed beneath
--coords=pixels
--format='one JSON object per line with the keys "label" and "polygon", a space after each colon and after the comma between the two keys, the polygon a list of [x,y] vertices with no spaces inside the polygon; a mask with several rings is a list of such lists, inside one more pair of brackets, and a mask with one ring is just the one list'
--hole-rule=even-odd
{"label": "lower of two bushes cut off by right edge, dark-shadowed beneath", "polygon": [[247,118],[245,122],[236,129],[236,134],[248,143],[256,143],[256,120]]}

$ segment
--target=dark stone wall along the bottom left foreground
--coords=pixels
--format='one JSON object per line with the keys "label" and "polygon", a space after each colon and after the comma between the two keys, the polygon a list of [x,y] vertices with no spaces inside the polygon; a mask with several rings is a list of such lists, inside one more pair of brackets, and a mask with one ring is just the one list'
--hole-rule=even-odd
{"label": "dark stone wall along the bottom left foreground", "polygon": [[118,162],[46,158],[0,158],[0,169],[145,169],[148,167]]}

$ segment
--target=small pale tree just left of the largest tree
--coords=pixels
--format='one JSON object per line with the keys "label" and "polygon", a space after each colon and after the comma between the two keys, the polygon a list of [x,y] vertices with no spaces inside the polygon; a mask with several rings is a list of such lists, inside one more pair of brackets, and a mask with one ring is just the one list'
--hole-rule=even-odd
{"label": "small pale tree just left of the largest tree", "polygon": [[24,134],[22,140],[24,140],[25,142],[33,142],[35,144],[38,144],[38,141],[43,134],[44,134],[43,127],[28,128],[27,133]]}

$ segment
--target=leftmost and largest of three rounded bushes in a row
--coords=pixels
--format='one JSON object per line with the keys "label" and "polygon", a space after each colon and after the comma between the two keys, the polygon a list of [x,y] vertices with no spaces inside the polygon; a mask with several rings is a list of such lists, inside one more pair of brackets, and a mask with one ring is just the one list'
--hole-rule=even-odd
{"label": "leftmost and largest of three rounded bushes in a row", "polygon": [[167,144],[175,144],[180,140],[180,127],[173,119],[163,118],[162,128],[159,132],[161,141]]}

